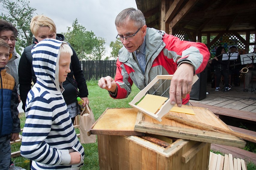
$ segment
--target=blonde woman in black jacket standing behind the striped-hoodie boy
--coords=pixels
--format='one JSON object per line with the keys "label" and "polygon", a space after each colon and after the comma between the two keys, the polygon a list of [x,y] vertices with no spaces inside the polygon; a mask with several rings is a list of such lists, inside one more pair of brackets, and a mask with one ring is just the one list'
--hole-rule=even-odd
{"label": "blonde woman in black jacket standing behind the striped-hoodie boy", "polygon": [[[31,80],[35,84],[36,77],[32,66],[32,48],[40,41],[46,38],[52,38],[56,40],[63,41],[65,37],[62,34],[56,34],[56,25],[53,20],[45,15],[34,16],[30,23],[30,29],[35,38],[33,39],[33,45],[30,45],[24,49],[23,54],[20,58],[19,63],[19,81],[20,81],[20,98],[23,103],[23,110],[25,110],[26,98],[29,90],[31,89]],[[69,46],[71,46],[69,44]],[[72,47],[71,47],[72,48]],[[77,103],[77,90],[79,89],[79,97],[84,100],[85,104],[89,104],[88,99],[88,89],[86,85],[86,80],[84,78],[83,70],[81,69],[81,64],[78,60],[75,50],[72,48],[73,55],[71,57],[70,70],[66,81],[63,82],[63,88],[65,91],[62,93],[64,100],[67,104],[70,117],[72,122],[75,121],[75,116],[80,114],[80,108]]]}

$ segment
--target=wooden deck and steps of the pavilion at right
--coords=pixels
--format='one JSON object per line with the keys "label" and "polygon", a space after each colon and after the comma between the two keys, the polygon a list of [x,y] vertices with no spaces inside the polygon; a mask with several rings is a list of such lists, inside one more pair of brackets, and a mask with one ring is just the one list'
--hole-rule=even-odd
{"label": "wooden deck and steps of the pavilion at right", "polygon": [[[255,89],[256,82],[254,86]],[[222,87],[223,86],[221,86],[221,88]],[[251,90],[251,88],[249,90]],[[206,95],[206,98],[200,101],[189,100],[190,105],[206,107],[229,125],[232,130],[247,133],[255,137],[256,91],[255,93],[250,91],[244,92],[242,83],[239,87],[232,87],[228,92],[215,91],[214,88],[211,88],[211,84],[208,83],[206,91],[209,93]],[[252,131],[251,129],[245,130],[237,128],[241,125],[241,122],[245,127],[250,127]],[[211,149],[224,154],[232,154],[234,158],[244,159],[245,162],[252,161],[256,164],[256,154],[252,152],[216,144],[212,144]]]}

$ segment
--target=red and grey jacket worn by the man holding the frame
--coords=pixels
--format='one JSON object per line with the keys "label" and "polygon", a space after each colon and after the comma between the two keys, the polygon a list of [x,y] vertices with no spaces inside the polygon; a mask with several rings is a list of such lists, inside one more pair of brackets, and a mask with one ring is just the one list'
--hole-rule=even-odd
{"label": "red and grey jacket worn by the man holding the frame", "polygon": [[[135,54],[130,53],[125,47],[119,50],[115,81],[117,83],[117,95],[115,98],[126,98],[133,83],[140,89],[144,89],[157,75],[173,75],[178,65],[182,62],[191,63],[195,74],[204,70],[210,57],[205,44],[199,42],[181,41],[178,37],[147,28],[145,36],[146,50],[145,74],[134,60]],[[162,85],[161,85],[162,84]],[[149,94],[162,95],[169,98],[170,81],[155,84]],[[110,95],[114,98],[112,95]],[[189,95],[182,99],[182,104],[189,101]]]}

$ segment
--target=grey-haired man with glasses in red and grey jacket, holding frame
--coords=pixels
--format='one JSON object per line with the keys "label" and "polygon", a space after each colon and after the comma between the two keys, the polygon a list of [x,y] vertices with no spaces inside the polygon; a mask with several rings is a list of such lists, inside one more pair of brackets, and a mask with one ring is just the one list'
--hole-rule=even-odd
{"label": "grey-haired man with glasses in red and grey jacket, holding frame", "polygon": [[[98,81],[112,98],[126,98],[133,83],[144,89],[157,75],[173,75],[170,82],[155,84],[149,94],[169,97],[171,104],[188,104],[193,76],[204,70],[209,50],[203,43],[181,41],[178,37],[147,28],[140,10],[126,8],[115,19],[116,39],[123,43],[117,59],[115,79]],[[182,100],[181,100],[182,98]]]}

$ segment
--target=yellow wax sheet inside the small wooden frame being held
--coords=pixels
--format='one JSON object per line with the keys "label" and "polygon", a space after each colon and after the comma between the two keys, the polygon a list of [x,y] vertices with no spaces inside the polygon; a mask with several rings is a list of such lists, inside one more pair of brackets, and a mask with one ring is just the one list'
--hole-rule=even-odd
{"label": "yellow wax sheet inside the small wooden frame being held", "polygon": [[156,113],[158,108],[161,107],[167,99],[167,97],[146,94],[137,106],[147,110],[148,112]]}

